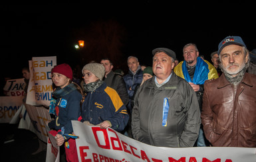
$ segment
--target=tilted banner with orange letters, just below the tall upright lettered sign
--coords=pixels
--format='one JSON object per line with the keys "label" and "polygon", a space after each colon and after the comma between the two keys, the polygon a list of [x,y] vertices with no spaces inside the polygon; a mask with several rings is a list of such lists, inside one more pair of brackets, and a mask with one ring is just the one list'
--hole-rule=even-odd
{"label": "tilted banner with orange letters, just below the tall upright lettered sign", "polygon": [[47,130],[46,130],[46,122],[51,121],[51,116],[44,106],[32,106],[30,104],[25,104],[27,109],[27,113],[29,114],[29,118],[35,128],[35,130],[31,130],[37,137],[43,142],[47,143]]}

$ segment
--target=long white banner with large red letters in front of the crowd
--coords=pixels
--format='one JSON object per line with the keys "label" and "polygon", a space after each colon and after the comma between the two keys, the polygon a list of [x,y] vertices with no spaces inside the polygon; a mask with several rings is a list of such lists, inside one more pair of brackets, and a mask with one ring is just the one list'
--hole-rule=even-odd
{"label": "long white banner with large red letters in front of the crowd", "polygon": [[156,147],[138,142],[108,128],[100,129],[72,121],[79,161],[169,161],[235,162],[256,161],[256,148],[241,147]]}

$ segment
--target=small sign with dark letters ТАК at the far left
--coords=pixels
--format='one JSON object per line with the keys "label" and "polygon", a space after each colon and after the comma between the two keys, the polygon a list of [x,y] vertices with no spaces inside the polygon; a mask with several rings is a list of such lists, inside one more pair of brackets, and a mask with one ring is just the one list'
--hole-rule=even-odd
{"label": "small sign with dark letters \u0422\u0410\u041a at the far left", "polygon": [[24,96],[24,78],[7,80],[3,91],[6,96]]}

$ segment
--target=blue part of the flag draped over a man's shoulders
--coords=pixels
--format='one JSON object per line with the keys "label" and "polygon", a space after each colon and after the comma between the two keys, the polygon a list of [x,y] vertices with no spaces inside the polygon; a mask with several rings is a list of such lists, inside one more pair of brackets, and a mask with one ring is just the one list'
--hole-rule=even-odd
{"label": "blue part of the flag draped over a man's shoulders", "polygon": [[195,73],[193,74],[193,81],[191,80],[190,74],[188,73],[186,61],[182,63],[182,72],[186,81],[192,82],[195,85],[203,85],[203,83],[208,79],[209,67],[208,64],[203,61],[203,59],[197,57],[197,64],[195,66]]}

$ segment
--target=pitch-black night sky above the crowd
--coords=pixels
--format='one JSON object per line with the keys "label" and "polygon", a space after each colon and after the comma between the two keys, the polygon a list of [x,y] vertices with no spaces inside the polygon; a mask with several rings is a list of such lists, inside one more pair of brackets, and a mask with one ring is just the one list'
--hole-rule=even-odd
{"label": "pitch-black night sky above the crowd", "polygon": [[[114,68],[127,71],[128,56],[152,65],[151,51],[158,47],[174,50],[180,61],[183,46],[191,42],[210,61],[211,52],[229,35],[241,36],[250,51],[256,48],[255,13],[239,11],[249,4],[232,2],[225,8],[211,1],[186,7],[161,1],[97,3],[1,6],[1,79],[21,78],[28,60],[40,56],[57,56],[57,64],[71,67],[111,58]],[[114,34],[118,42],[110,46]],[[86,47],[79,51],[74,44],[80,39]]]}

